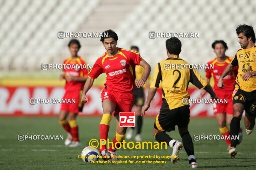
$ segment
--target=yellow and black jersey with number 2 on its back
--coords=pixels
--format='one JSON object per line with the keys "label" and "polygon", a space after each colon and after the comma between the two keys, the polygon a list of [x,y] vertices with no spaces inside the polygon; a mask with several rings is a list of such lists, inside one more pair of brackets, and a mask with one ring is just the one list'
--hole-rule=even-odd
{"label": "yellow and black jersey with number 2 on its back", "polygon": [[175,56],[159,62],[154,70],[150,88],[158,88],[162,81],[162,110],[171,110],[189,104],[182,103],[183,98],[189,98],[187,91],[189,82],[200,89],[207,85],[207,81],[195,69],[187,67],[180,69],[184,68],[182,66],[173,68],[174,65],[183,64],[188,65],[186,61]]}

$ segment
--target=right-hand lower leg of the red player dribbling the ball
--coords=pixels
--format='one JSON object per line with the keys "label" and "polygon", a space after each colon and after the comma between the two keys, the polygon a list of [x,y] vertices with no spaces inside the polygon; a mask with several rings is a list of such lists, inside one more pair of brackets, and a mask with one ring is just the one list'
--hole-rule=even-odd
{"label": "right-hand lower leg of the red player dribbling the ball", "polygon": [[111,153],[112,161],[118,160],[116,150],[121,147],[121,143],[123,142],[123,140],[125,138],[125,133],[127,130],[127,127],[120,127],[118,113],[115,114],[115,119],[116,119],[116,132],[115,132],[115,136],[113,138],[113,144],[109,148],[109,152]]}

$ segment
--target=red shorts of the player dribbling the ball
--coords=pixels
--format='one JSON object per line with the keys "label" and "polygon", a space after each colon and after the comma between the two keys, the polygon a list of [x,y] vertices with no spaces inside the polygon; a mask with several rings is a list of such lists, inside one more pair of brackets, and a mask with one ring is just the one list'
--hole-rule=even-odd
{"label": "red shorts of the player dribbling the ball", "polygon": [[102,102],[109,99],[114,104],[115,110],[113,114],[119,114],[122,111],[132,111],[134,105],[133,93],[113,92],[106,89],[102,90],[100,95]]}

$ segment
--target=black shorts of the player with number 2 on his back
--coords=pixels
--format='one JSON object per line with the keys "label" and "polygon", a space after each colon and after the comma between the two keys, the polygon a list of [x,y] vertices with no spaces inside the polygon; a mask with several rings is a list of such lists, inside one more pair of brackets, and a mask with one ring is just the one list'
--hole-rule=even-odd
{"label": "black shorts of the player with number 2 on his back", "polygon": [[159,131],[173,131],[175,126],[187,127],[189,123],[189,105],[178,107],[172,110],[160,110],[157,115],[154,128]]}

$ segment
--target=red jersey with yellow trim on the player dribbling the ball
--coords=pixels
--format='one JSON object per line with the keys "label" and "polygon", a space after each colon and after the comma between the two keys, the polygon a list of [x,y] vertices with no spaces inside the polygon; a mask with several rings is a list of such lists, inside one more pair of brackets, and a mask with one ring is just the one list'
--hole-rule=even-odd
{"label": "red jersey with yellow trim on the player dribbling the ball", "polygon": [[140,65],[143,58],[139,52],[118,48],[115,56],[109,57],[105,52],[97,59],[89,72],[89,77],[97,78],[106,73],[105,88],[115,92],[132,92],[135,80],[135,65]]}

